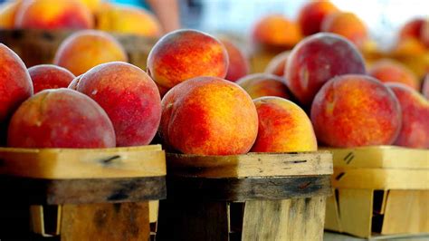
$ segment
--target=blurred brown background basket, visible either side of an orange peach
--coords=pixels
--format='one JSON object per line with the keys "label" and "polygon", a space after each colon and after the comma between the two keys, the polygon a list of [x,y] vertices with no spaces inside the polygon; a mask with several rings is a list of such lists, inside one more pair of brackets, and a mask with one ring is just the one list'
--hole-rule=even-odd
{"label": "blurred brown background basket, visible either side of an orange peach", "polygon": [[[21,57],[27,67],[31,67],[52,63],[58,46],[72,33],[67,30],[0,30],[0,43],[5,43]],[[124,47],[129,63],[146,70],[148,53],[157,39],[131,34],[110,34]]]}

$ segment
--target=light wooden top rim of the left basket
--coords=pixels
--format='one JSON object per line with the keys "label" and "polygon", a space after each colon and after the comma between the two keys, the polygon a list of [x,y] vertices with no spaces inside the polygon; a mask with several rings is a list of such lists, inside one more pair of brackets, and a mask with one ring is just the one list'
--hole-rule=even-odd
{"label": "light wooden top rim of the left basket", "polygon": [[25,178],[130,178],[166,175],[160,145],[115,149],[0,148],[0,175]]}

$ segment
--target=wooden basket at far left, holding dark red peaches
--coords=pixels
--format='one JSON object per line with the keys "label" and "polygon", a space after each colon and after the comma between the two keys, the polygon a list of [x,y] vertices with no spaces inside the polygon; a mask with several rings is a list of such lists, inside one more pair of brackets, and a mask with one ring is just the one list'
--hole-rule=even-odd
{"label": "wooden basket at far left, holding dark red peaches", "polygon": [[167,196],[165,152],[0,148],[0,191],[2,238],[148,240]]}

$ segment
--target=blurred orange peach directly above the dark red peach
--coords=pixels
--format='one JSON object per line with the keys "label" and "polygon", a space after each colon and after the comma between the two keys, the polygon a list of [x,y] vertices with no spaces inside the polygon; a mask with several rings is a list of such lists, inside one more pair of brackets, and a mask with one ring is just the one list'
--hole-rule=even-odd
{"label": "blurred orange peach directly above the dark red peach", "polygon": [[356,14],[338,12],[327,15],[321,24],[322,32],[339,34],[361,47],[368,38],[367,26]]}

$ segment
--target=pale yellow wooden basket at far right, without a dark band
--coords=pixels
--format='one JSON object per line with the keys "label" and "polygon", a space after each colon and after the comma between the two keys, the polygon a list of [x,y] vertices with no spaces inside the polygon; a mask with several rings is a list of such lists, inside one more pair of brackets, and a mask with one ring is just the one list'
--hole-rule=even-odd
{"label": "pale yellow wooden basket at far right, without a dark band", "polygon": [[429,150],[329,149],[335,196],[325,228],[361,237],[429,233]]}

